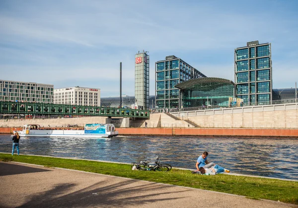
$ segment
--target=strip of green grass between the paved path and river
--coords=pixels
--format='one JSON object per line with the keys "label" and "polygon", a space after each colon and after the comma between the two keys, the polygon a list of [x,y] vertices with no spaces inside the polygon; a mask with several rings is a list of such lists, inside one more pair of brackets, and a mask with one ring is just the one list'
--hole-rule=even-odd
{"label": "strip of green grass between the paved path and river", "polygon": [[31,155],[0,153],[0,161],[16,161],[47,167],[60,167],[105,175],[140,179],[152,182],[192,187],[210,191],[246,196],[252,199],[268,199],[298,204],[298,182],[219,174],[205,176],[189,170],[172,169],[169,172],[133,171],[127,164],[63,159]]}

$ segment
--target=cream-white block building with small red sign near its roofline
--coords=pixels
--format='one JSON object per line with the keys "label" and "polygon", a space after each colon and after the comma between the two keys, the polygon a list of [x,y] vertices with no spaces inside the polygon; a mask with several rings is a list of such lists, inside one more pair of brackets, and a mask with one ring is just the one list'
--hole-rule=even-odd
{"label": "cream-white block building with small red sign near its roofline", "polygon": [[79,86],[54,89],[54,103],[100,106],[100,89]]}

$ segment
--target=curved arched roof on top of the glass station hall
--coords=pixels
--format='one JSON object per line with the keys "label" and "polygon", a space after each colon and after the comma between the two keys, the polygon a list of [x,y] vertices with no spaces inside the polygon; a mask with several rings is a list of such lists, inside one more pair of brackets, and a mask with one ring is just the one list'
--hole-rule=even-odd
{"label": "curved arched roof on top of the glass station hall", "polygon": [[204,77],[204,78],[197,78],[197,79],[190,79],[188,81],[183,81],[179,84],[176,84],[175,87],[181,90],[197,89],[201,91],[210,91],[224,85],[234,86],[235,84],[233,81],[224,79],[224,78]]}

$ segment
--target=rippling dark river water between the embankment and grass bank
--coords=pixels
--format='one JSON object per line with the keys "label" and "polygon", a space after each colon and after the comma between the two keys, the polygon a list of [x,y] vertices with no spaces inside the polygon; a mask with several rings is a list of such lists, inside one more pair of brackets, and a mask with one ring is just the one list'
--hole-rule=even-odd
{"label": "rippling dark river water between the embankment and grass bank", "polygon": [[[0,152],[11,152],[10,135],[0,135]],[[111,139],[21,138],[20,153],[115,162],[160,161],[195,169],[198,156],[231,173],[298,180],[298,139],[118,136]],[[16,150],[15,150],[16,153]]]}

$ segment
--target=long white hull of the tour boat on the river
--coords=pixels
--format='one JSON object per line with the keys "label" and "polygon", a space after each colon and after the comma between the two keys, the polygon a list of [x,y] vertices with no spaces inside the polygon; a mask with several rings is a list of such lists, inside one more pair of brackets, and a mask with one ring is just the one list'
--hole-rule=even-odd
{"label": "long white hull of the tour boat on the river", "polygon": [[29,130],[28,132],[19,131],[18,133],[20,137],[110,138],[118,136],[117,131],[107,132],[106,134],[85,134],[84,130]]}

